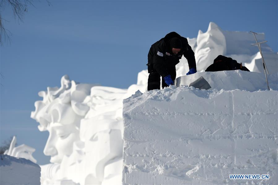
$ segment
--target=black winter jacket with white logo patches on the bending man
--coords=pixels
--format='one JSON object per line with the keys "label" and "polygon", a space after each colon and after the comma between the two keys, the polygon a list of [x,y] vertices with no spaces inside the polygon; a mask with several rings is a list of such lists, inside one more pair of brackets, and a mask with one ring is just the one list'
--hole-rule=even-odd
{"label": "black winter jacket with white logo patches on the bending man", "polygon": [[[182,41],[182,49],[176,55],[173,55],[172,48],[169,46],[169,40],[174,37]],[[147,65],[153,65],[155,70],[164,78],[169,75],[167,68],[177,65],[182,55],[187,59],[189,68],[196,69],[195,55],[187,39],[181,37],[176,32],[170,32],[151,46]]]}

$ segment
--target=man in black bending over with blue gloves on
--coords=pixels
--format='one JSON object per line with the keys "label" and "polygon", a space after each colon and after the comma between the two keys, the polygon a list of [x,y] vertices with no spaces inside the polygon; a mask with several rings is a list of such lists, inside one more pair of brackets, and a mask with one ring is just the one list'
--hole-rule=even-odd
{"label": "man in black bending over with blue gloves on", "polygon": [[148,91],[160,89],[160,76],[162,88],[174,84],[176,79],[176,65],[182,55],[187,59],[189,72],[196,73],[196,61],[193,50],[186,38],[176,32],[168,33],[164,38],[154,43],[148,53]]}

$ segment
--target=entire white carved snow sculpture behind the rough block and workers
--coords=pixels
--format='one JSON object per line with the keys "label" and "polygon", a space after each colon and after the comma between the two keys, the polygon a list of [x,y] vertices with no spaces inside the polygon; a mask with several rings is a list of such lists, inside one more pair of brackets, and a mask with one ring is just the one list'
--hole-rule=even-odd
{"label": "entire white carved snow sculpture behind the rough block and workers", "polygon": [[[188,38],[198,72],[204,71],[219,54],[242,62],[250,71],[261,72],[257,47],[251,46],[252,37],[248,32],[223,31],[210,23],[207,32],[199,31],[197,38]],[[259,34],[258,40],[264,40],[263,37]],[[276,73],[277,53],[267,44],[262,47],[270,74]],[[186,75],[189,69],[185,58],[176,69],[177,77]],[[184,78],[181,84],[183,81]],[[52,162],[41,166],[41,183],[120,184],[122,100],[137,90],[145,92],[147,82],[147,70],[139,72],[137,84],[128,89],[78,84],[65,75],[60,88],[39,92],[43,100],[35,102],[31,117],[40,123],[40,131],[49,131],[44,153],[51,156]]]}

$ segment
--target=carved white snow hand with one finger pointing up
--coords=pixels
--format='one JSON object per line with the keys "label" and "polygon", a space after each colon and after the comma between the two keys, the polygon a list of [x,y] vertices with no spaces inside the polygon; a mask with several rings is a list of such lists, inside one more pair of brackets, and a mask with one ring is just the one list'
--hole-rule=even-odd
{"label": "carved white snow hand with one finger pointing up", "polygon": [[4,152],[4,154],[12,156],[12,157],[20,157],[24,159],[28,159],[33,163],[36,163],[37,160],[32,156],[33,152],[35,152],[35,148],[32,148],[26,144],[21,144],[19,146],[15,146],[16,137],[14,136],[10,148]]}

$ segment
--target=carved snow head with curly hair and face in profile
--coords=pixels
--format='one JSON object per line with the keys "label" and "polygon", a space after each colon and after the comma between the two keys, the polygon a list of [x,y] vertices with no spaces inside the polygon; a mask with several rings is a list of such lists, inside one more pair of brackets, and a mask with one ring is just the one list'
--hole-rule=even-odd
{"label": "carved snow head with curly hair and face in profile", "polygon": [[40,123],[39,130],[49,131],[44,154],[51,156],[50,162],[52,163],[61,163],[64,155],[72,153],[72,144],[79,140],[79,125],[82,116],[77,114],[71,106],[71,101],[75,101],[74,98],[71,100],[71,92],[75,92],[71,87],[76,89],[75,86],[75,82],[71,82],[69,77],[64,75],[60,88],[48,87],[47,92],[39,92],[43,101],[36,101],[36,110],[31,113],[31,118]]}

